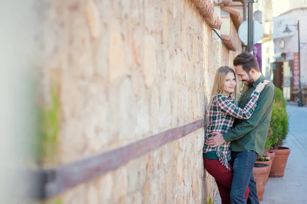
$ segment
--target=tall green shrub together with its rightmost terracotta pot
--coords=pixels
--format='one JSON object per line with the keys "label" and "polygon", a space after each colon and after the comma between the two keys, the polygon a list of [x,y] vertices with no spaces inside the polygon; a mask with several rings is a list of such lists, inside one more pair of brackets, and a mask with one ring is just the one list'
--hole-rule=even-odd
{"label": "tall green shrub together with its rightmost terracotta pot", "polygon": [[270,128],[267,137],[267,147],[275,152],[274,162],[271,167],[270,177],[282,177],[290,154],[290,148],[283,147],[282,143],[287,137],[288,115],[286,112],[286,100],[279,88],[276,88],[275,102],[272,110]]}

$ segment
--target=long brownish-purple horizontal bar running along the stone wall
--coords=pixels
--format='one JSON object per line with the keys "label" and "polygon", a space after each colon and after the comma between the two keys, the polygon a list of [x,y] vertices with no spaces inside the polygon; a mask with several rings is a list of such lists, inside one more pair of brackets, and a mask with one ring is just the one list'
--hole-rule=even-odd
{"label": "long brownish-purple horizontal bar running along the stone wall", "polygon": [[129,161],[169,142],[185,137],[207,124],[208,118],[201,119],[71,164],[55,169],[32,172],[35,174],[36,179],[38,179],[38,184],[34,189],[36,192],[33,196],[37,199],[56,196],[65,190],[101,176],[108,171],[115,170]]}

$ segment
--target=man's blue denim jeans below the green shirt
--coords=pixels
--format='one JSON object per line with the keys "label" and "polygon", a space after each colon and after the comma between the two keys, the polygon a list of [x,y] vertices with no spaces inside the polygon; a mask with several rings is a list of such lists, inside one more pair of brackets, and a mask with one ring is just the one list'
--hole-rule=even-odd
{"label": "man's blue denim jeans below the green shirt", "polygon": [[[231,204],[259,204],[256,183],[253,176],[253,167],[257,153],[252,150],[235,152],[231,151],[231,165],[233,178],[230,191]],[[244,193],[250,188],[247,202]]]}

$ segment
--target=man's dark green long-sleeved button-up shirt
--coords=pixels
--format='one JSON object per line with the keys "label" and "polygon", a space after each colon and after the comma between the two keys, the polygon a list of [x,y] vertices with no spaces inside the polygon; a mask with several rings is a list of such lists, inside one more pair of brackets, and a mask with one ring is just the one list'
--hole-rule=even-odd
{"label": "man's dark green long-sleeved button-up shirt", "polygon": [[[269,79],[261,75],[251,87],[244,87],[241,98],[239,99],[239,107],[245,107],[256,86],[262,80]],[[226,142],[232,141],[231,151],[253,150],[260,155],[264,153],[274,99],[275,87],[270,82],[260,93],[258,105],[252,117],[248,120],[235,119],[233,129],[223,134]]]}

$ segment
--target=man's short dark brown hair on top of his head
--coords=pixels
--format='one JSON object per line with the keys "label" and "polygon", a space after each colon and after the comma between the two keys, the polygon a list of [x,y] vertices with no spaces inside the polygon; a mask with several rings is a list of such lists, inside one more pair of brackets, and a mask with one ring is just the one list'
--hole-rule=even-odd
{"label": "man's short dark brown hair on top of his head", "polygon": [[238,54],[233,60],[233,65],[234,66],[242,65],[243,70],[248,75],[251,69],[256,70],[256,72],[260,72],[256,58],[254,57],[254,55],[252,55],[249,52]]}

